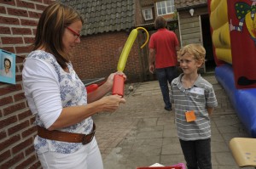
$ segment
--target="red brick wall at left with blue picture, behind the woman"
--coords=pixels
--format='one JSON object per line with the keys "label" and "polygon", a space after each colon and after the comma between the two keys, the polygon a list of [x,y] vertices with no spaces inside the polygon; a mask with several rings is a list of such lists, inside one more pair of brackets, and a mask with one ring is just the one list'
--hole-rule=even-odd
{"label": "red brick wall at left with blue picture, behind the woman", "polygon": [[40,168],[36,128],[22,90],[22,62],[49,0],[0,0],[0,48],[16,54],[16,84],[0,82],[0,168]]}

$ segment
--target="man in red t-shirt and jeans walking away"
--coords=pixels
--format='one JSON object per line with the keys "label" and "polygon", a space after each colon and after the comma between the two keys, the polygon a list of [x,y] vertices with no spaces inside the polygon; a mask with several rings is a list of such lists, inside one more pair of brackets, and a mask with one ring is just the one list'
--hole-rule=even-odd
{"label": "man in red t-shirt and jeans walking away", "polygon": [[172,80],[177,77],[177,50],[179,43],[173,31],[166,29],[167,21],[158,16],[154,21],[157,32],[152,34],[149,40],[149,71],[156,73],[160,89],[165,102],[165,110],[172,110],[169,87]]}

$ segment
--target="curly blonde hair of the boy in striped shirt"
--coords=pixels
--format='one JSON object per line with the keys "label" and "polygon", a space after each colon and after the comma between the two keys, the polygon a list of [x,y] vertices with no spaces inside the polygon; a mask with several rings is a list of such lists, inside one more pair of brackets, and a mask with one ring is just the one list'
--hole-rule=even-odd
{"label": "curly blonde hair of the boy in striped shirt", "polygon": [[195,60],[202,64],[205,62],[206,49],[201,44],[189,44],[181,48],[177,53],[177,59],[181,59],[184,54],[191,54]]}

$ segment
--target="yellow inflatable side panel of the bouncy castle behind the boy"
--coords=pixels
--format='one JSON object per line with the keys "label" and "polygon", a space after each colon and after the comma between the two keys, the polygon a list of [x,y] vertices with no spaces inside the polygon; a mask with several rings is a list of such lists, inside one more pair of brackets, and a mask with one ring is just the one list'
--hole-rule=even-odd
{"label": "yellow inflatable side panel of the bouncy castle behind the boy", "polygon": [[212,0],[210,24],[217,59],[232,64],[227,0]]}

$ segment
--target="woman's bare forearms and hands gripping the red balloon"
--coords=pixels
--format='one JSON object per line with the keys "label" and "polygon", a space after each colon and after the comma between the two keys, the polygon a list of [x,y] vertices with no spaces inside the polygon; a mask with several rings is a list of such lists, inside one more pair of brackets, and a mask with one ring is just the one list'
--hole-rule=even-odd
{"label": "woman's bare forearms and hands gripping the red balloon", "polygon": [[[121,73],[125,78],[126,76]],[[89,93],[87,97],[88,104],[82,106],[72,106],[64,108],[58,119],[48,128],[55,130],[62,127],[68,127],[76,124],[91,115],[101,111],[113,112],[117,110],[119,104],[125,104],[125,99],[118,95],[105,96],[113,87],[113,76],[115,73],[108,76],[107,82],[98,87],[96,91]]]}

